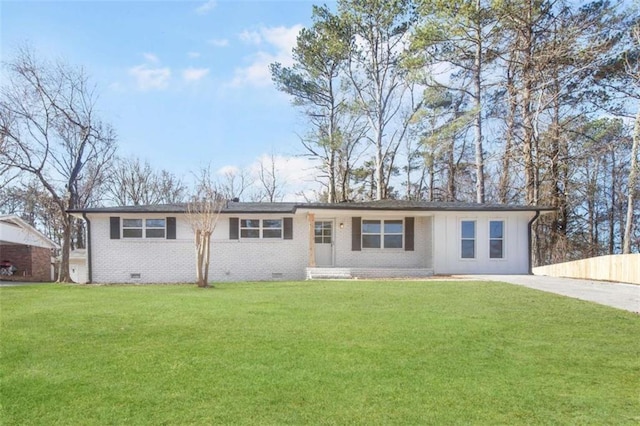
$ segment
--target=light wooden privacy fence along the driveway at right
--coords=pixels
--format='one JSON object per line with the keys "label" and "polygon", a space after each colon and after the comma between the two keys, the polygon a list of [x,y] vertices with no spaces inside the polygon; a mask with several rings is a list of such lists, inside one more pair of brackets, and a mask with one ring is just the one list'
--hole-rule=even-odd
{"label": "light wooden privacy fence along the driveway at right", "polygon": [[616,254],[533,268],[535,275],[640,284],[640,254]]}

